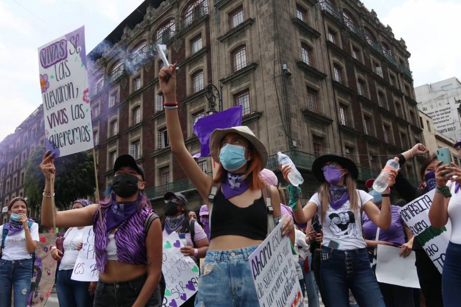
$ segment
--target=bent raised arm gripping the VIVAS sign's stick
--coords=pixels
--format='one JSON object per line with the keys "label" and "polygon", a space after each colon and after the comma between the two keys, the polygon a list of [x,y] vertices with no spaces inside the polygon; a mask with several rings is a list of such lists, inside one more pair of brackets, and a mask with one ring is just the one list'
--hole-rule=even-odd
{"label": "bent raised arm gripping the VIVAS sign's stick", "polygon": [[90,205],[81,209],[72,209],[66,211],[53,210],[53,202],[51,198],[52,181],[56,173],[56,168],[53,163],[54,155],[50,151],[45,152],[40,168],[45,175],[44,196],[41,200],[41,224],[47,227],[53,226],[53,215],[55,216],[56,227],[78,227],[93,225],[93,215],[98,208],[98,205]]}

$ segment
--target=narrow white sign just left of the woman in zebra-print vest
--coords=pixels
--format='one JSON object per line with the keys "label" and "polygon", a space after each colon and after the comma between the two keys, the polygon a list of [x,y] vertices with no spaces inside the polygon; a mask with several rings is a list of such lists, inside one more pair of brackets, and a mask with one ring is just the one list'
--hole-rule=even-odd
{"label": "narrow white sign just left of the woman in zebra-print vest", "polygon": [[78,281],[98,281],[98,269],[94,255],[93,226],[83,228],[82,247],[78,252],[71,279]]}

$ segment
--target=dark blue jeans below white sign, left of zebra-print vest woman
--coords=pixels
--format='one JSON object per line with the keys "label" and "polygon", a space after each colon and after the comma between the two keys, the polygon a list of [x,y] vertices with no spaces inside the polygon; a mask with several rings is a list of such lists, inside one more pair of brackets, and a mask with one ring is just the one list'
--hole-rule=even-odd
{"label": "dark blue jeans below white sign, left of zebra-print vest woman", "polygon": [[60,306],[88,307],[91,296],[90,282],[70,279],[73,270],[59,270],[56,278],[56,291]]}

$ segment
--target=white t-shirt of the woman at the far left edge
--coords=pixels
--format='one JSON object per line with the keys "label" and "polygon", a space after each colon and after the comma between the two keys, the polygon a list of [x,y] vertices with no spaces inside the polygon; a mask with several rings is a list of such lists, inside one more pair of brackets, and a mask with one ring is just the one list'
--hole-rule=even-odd
{"label": "white t-shirt of the woman at the far left edge", "polygon": [[[32,240],[38,241],[38,224],[33,223],[30,228]],[[3,235],[3,225],[0,226],[0,236]],[[0,238],[1,239],[1,238]],[[5,248],[2,251],[4,260],[30,259],[32,255],[27,252],[25,230],[9,232],[5,238]]]}

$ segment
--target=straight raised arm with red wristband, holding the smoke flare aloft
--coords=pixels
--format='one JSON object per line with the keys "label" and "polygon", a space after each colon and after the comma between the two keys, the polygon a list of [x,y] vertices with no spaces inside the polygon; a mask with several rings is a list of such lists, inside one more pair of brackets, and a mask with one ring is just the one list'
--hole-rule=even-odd
{"label": "straight raised arm with red wristband, holding the smoke flare aloft", "polygon": [[[159,73],[160,87],[165,97],[165,105],[177,104],[176,101],[176,64],[169,68],[162,68]],[[171,151],[179,161],[186,176],[197,188],[204,200],[208,198],[209,189],[213,180],[205,174],[192,158],[187,150],[182,136],[181,123],[179,121],[178,109],[165,107],[166,131],[170,139]]]}

